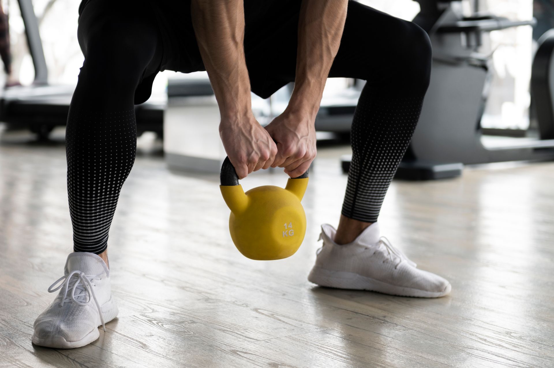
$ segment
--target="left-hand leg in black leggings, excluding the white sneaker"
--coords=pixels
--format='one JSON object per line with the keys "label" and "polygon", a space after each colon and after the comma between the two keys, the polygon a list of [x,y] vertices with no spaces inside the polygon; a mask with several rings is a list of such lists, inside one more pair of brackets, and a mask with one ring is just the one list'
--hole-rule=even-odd
{"label": "left-hand leg in black leggings, excluding the white sneaker", "polygon": [[104,258],[117,198],[135,161],[135,88],[161,56],[152,19],[117,9],[113,14],[101,4],[89,3],[80,18],[85,61],[65,138],[74,251]]}

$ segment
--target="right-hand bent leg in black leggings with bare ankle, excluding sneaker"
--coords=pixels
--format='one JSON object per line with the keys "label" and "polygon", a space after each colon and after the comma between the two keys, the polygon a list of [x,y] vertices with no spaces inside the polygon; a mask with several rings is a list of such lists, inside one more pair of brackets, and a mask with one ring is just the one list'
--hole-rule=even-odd
{"label": "right-hand bent leg in black leggings with bare ankle, excluding sneaker", "polygon": [[[388,186],[419,119],[431,48],[416,24],[351,3],[330,77],[366,80],[352,120],[352,162],[335,241],[377,222]],[[361,40],[366,39],[365,45]]]}

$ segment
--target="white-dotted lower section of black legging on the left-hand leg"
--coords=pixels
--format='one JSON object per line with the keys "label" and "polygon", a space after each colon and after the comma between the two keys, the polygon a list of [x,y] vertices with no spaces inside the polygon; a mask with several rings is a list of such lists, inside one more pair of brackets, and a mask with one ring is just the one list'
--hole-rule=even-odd
{"label": "white-dotted lower section of black legging on the left-hand leg", "polygon": [[135,162],[136,136],[135,109],[71,109],[65,147],[75,251],[100,254],[106,249],[117,198]]}

